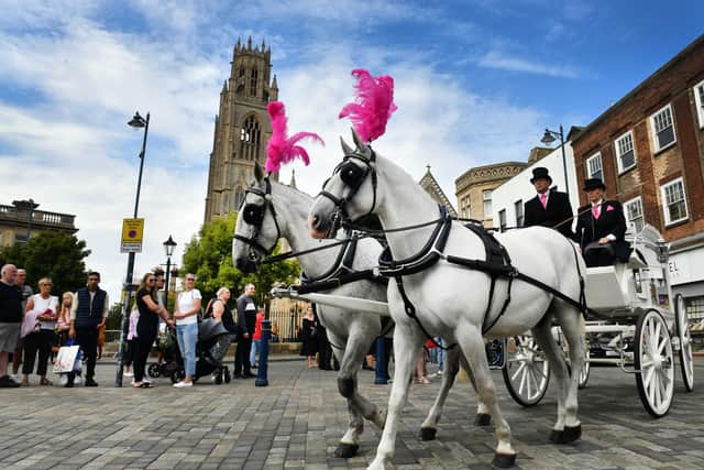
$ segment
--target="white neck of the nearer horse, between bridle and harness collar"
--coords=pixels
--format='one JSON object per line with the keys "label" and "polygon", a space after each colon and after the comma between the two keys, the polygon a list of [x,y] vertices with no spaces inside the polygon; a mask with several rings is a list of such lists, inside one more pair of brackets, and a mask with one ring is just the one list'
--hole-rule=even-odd
{"label": "white neck of the nearer horse, between bridle and harness collar", "polygon": [[[437,220],[438,203],[398,165],[376,156],[376,200],[374,212],[385,230],[409,227]],[[420,251],[432,233],[435,225],[420,229],[386,234],[395,260],[411,256]]]}

